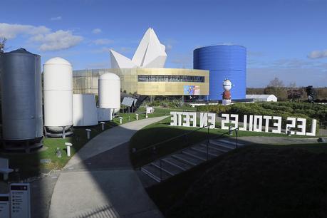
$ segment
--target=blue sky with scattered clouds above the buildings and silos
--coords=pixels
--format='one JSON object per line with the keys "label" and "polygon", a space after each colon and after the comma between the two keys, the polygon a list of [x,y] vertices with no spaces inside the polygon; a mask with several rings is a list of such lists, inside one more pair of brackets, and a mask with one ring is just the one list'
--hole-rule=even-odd
{"label": "blue sky with scattered clouds above the buildings and silos", "polygon": [[147,28],[167,49],[167,68],[192,68],[199,46],[247,48],[247,86],[327,86],[327,0],[1,1],[0,37],[66,58],[74,69],[109,68],[108,50],[131,58]]}

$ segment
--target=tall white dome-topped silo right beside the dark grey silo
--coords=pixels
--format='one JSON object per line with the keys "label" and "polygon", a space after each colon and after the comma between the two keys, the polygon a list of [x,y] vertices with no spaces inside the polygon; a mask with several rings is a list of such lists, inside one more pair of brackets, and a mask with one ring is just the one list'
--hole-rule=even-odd
{"label": "tall white dome-topped silo right beside the dark grey silo", "polygon": [[46,135],[73,134],[73,68],[63,58],[43,64],[44,126]]}

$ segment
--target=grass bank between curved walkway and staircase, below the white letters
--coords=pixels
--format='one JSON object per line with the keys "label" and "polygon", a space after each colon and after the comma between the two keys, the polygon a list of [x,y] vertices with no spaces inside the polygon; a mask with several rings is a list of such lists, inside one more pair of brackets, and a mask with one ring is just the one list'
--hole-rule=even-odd
{"label": "grass bank between curved walkway and staircase, below the white letters", "polygon": [[[140,167],[149,162],[152,162],[152,160],[158,159],[159,157],[169,155],[170,153],[175,152],[177,150],[181,150],[184,147],[188,147],[197,142],[207,140],[208,136],[209,138],[214,138],[214,137],[219,137],[219,135],[222,135],[223,133],[227,133],[227,130],[216,128],[216,129],[210,129],[208,135],[207,128],[204,128],[202,130],[198,130],[198,129],[199,128],[170,126],[170,118],[166,118],[165,120],[161,120],[158,123],[148,125],[142,130],[137,131],[137,133],[135,133],[135,135],[133,135],[133,137],[130,140],[130,151],[131,151],[130,159],[132,160],[134,167]],[[187,135],[183,137],[177,137],[183,134],[187,134]],[[249,131],[238,131],[238,136],[239,137],[242,136],[285,137],[286,135],[277,134],[277,133],[264,133],[264,132],[256,133],[256,132],[249,132]],[[175,138],[174,140],[170,140],[169,142],[164,142],[160,145],[156,145],[155,150],[146,149],[147,147],[152,147],[152,145],[155,145],[158,142],[168,140],[172,137],[177,137],[177,138]],[[225,134],[222,137],[231,137],[231,136]],[[235,137],[235,133],[233,133],[232,137]],[[306,137],[306,136],[292,135],[291,137]],[[133,149],[136,149],[136,152],[132,152]]]}

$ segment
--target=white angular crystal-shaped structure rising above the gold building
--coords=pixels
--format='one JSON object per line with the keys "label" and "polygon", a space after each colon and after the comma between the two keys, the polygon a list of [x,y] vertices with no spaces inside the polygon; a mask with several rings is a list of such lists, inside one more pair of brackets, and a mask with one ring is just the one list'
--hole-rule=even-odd
{"label": "white angular crystal-shaped structure rising above the gold building", "polygon": [[163,68],[166,58],[165,45],[160,43],[153,28],[145,32],[132,60],[110,49],[111,68]]}

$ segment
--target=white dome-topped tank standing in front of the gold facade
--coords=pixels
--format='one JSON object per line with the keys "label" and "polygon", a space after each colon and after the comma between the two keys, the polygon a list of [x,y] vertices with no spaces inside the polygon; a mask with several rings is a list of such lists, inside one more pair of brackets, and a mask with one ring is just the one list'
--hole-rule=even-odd
{"label": "white dome-topped tank standing in front of the gold facade", "polygon": [[120,110],[120,78],[115,73],[104,73],[99,77],[99,108]]}

